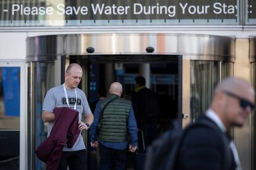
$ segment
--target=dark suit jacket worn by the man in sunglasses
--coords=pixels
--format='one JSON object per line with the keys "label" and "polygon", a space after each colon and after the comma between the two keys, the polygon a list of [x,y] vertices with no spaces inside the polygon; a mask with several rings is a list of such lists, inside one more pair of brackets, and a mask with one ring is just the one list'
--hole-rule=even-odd
{"label": "dark suit jacket worn by the man in sunglasses", "polygon": [[[197,122],[200,121],[207,121],[207,123],[217,126],[205,115],[199,118]],[[236,169],[234,156],[229,148],[228,137],[221,129],[213,129],[211,126],[198,126],[190,129],[182,140],[175,169]]]}

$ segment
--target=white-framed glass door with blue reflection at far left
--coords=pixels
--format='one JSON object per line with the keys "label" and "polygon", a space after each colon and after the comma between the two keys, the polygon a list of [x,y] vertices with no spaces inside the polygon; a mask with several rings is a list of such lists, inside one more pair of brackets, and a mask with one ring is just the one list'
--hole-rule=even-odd
{"label": "white-framed glass door with blue reflection at far left", "polygon": [[25,63],[0,62],[0,169],[26,169]]}

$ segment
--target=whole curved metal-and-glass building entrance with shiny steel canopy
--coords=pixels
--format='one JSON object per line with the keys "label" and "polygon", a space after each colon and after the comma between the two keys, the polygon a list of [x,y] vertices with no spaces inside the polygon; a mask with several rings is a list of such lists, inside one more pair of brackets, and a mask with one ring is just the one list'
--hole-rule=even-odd
{"label": "whole curved metal-and-glass building entrance with shiny steel canopy", "polygon": [[177,118],[181,127],[186,126],[208,108],[216,84],[233,75],[234,39],[194,34],[37,36],[27,39],[27,62],[28,139],[20,145],[28,147],[28,169],[45,169],[35,156],[35,148],[46,138],[43,99],[51,87],[64,83],[69,63],[82,66],[79,87],[90,103],[98,99],[100,87],[108,90],[113,81],[123,84],[122,97],[129,99],[134,78],[144,76],[146,86],[163,97],[162,109],[169,109],[159,117],[161,134],[170,119]]}

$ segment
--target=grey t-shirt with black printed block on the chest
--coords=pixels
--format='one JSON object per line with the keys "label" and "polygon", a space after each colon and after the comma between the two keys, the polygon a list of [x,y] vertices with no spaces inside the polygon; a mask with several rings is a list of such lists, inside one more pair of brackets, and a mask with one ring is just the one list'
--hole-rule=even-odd
{"label": "grey t-shirt with black printed block on the chest", "polygon": [[[77,108],[76,110],[79,111],[79,121],[82,119],[83,115],[89,115],[92,111],[88,105],[87,98],[85,93],[78,89],[66,89],[67,91],[67,98],[69,100],[69,107],[74,108],[75,105],[75,90],[77,91]],[[53,109],[56,107],[68,107],[65,97],[64,88],[62,85],[53,87],[49,89],[45,96],[45,100],[43,102],[43,110],[53,112]],[[54,122],[49,122],[48,124],[48,134],[49,136],[51,129],[53,128]],[[78,126],[78,124],[77,124]],[[79,135],[77,142],[75,142],[72,148],[64,147],[64,151],[75,151],[75,150],[82,150],[85,149],[85,144],[83,143],[82,135]]]}

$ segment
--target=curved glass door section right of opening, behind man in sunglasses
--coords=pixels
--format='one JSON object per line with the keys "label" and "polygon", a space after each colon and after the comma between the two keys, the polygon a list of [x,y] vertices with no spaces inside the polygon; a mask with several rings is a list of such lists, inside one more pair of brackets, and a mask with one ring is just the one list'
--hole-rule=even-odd
{"label": "curved glass door section right of opening, behind man in sunglasses", "polygon": [[226,76],[233,76],[233,67],[232,62],[183,60],[184,126],[207,111],[216,85]]}

